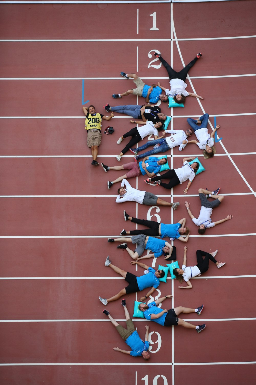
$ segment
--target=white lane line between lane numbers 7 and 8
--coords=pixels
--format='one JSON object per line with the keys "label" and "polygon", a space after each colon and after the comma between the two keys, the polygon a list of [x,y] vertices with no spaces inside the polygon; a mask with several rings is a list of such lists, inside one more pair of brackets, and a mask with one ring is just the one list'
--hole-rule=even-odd
{"label": "white lane line between lane numbers 7 and 8", "polygon": [[[256,275],[230,275],[230,276],[215,276],[215,277],[193,277],[192,280],[208,280],[208,279],[222,279],[222,278],[255,278]],[[172,277],[167,277],[171,280]],[[1,281],[12,280],[124,280],[123,277],[0,277]]]}

